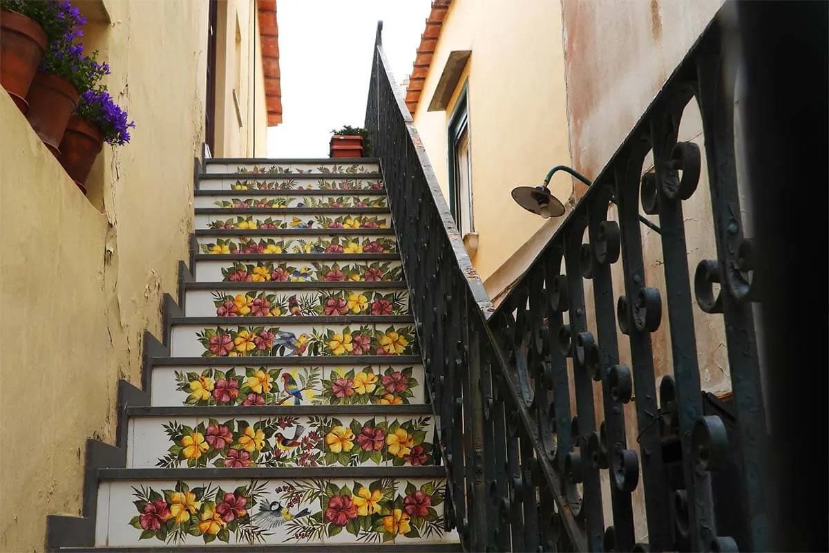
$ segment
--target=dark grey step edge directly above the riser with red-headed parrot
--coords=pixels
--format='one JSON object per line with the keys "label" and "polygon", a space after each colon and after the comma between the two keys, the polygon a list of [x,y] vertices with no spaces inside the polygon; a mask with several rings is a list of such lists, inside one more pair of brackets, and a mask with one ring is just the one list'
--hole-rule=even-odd
{"label": "dark grey step edge directly above the riser with red-headed parrot", "polygon": [[368,366],[368,365],[423,365],[417,355],[361,355],[361,356],[304,356],[304,357],[150,357],[148,364],[156,366]]}

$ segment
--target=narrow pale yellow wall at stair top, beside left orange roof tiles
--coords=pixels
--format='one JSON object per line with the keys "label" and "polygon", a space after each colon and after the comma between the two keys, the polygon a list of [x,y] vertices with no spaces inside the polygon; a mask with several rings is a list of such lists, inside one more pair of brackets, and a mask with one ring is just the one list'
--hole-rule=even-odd
{"label": "narrow pale yellow wall at stair top, beside left orange roof tiles", "polygon": [[216,152],[212,154],[214,158],[264,157],[268,109],[255,0],[219,0],[218,10]]}

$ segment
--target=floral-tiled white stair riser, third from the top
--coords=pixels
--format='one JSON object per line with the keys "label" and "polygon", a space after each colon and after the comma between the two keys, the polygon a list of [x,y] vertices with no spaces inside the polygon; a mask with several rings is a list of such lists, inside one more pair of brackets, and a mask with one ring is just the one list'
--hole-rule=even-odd
{"label": "floral-tiled white stair riser, third from the top", "polygon": [[[378,192],[378,191],[373,191]],[[239,192],[230,196],[198,195],[196,209],[347,209],[387,208],[388,200],[376,193],[344,191],[331,194],[295,195],[290,192]]]}

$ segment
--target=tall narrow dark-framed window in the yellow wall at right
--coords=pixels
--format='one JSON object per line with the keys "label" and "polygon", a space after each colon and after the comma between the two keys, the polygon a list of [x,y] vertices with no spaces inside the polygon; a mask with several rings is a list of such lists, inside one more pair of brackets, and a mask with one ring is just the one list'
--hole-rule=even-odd
{"label": "tall narrow dark-framed window in the yellow wall at right", "polygon": [[461,236],[475,231],[472,203],[472,155],[469,143],[467,85],[449,119],[449,206]]}

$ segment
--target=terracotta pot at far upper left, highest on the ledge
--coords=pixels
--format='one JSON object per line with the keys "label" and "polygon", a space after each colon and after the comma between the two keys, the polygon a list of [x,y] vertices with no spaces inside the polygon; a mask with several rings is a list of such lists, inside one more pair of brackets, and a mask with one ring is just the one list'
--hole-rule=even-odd
{"label": "terracotta pot at far upper left, highest on the ledge", "polygon": [[0,85],[26,114],[26,95],[46,51],[46,32],[17,12],[0,10]]}

